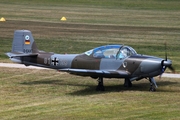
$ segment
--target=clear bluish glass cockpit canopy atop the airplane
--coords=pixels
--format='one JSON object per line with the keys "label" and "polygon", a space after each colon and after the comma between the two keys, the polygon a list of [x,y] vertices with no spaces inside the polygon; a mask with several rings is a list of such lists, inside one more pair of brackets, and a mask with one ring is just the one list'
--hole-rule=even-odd
{"label": "clear bluish glass cockpit canopy atop the airplane", "polygon": [[94,58],[116,58],[124,59],[137,52],[130,46],[124,45],[107,45],[100,46],[85,52],[86,55],[92,56]]}

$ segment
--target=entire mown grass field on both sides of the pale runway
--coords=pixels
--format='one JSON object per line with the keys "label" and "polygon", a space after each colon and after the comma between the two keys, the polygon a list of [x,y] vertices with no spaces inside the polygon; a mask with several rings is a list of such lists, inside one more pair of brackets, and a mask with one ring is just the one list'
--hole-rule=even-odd
{"label": "entire mown grass field on both sides of the pale runway", "polygon": [[[165,57],[180,72],[178,0],[1,0],[0,62],[11,62],[14,30],[32,31],[40,50],[82,53],[106,44],[132,46],[140,54]],[[60,21],[65,16],[67,21]],[[167,70],[167,72],[170,72]],[[91,78],[51,70],[0,68],[0,119],[180,119],[179,79],[149,82],[105,79],[96,92]]]}

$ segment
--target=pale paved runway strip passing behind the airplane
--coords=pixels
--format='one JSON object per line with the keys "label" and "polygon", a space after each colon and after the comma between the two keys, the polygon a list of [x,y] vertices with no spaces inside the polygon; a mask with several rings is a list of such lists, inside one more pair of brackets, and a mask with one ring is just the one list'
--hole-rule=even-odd
{"label": "pale paved runway strip passing behind the airplane", "polygon": [[[26,68],[26,69],[47,69],[47,68],[35,67],[35,66],[28,66],[28,67],[26,67],[23,64],[12,64],[12,63],[0,63],[0,67]],[[180,74],[163,73],[162,77],[180,78]]]}

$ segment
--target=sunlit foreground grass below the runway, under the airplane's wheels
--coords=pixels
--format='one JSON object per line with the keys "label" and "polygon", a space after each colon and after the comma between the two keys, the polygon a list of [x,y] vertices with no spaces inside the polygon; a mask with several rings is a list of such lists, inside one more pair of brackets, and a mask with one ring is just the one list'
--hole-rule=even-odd
{"label": "sunlit foreground grass below the runway, under the airplane's wheels", "polygon": [[149,82],[105,79],[105,92],[96,92],[91,78],[53,70],[0,69],[1,119],[178,119],[179,80]]}

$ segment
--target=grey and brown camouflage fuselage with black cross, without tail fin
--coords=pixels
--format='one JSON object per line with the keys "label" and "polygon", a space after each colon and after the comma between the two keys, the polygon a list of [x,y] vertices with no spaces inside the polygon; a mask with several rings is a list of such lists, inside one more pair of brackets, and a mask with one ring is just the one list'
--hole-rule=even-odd
{"label": "grey and brown camouflage fuselage with black cross, without tail fin", "polygon": [[[127,71],[130,78],[144,78],[162,74],[162,58],[134,54],[124,59],[96,58],[86,54],[55,54],[39,53],[37,57],[23,57],[25,65],[35,65],[52,69],[86,69],[102,71]],[[88,76],[79,74],[81,76]],[[90,76],[92,76],[90,74]],[[124,76],[114,74],[104,77],[122,78]]]}

